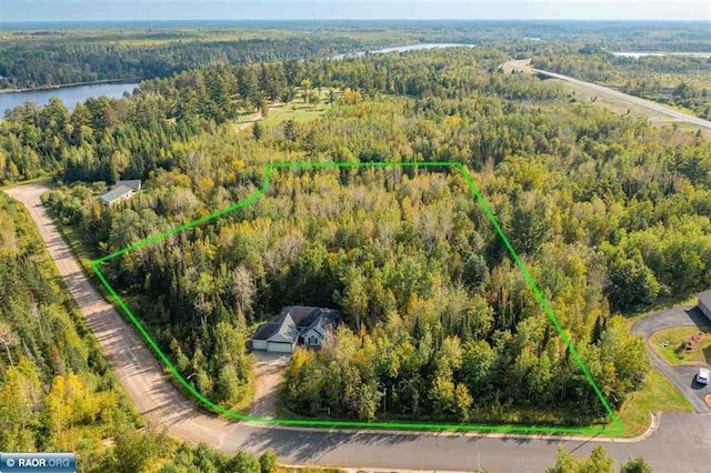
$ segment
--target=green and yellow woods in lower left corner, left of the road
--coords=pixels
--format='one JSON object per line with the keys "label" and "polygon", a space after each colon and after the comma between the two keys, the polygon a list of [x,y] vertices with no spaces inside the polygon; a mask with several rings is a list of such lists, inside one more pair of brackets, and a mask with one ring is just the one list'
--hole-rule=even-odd
{"label": "green and yellow woods in lower left corner, left of the road", "polygon": [[[61,286],[26,210],[0,193],[0,445],[77,452],[86,472],[269,473],[244,452],[179,445],[147,429]],[[142,427],[141,430],[139,430]]]}

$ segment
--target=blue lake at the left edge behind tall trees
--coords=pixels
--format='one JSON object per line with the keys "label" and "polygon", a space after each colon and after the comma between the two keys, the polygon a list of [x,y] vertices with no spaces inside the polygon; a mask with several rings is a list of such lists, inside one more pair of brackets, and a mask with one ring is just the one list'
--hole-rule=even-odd
{"label": "blue lake at the left edge behind tall trees", "polygon": [[73,110],[77,103],[83,102],[90,97],[107,95],[112,99],[123,97],[123,92],[132,92],[138,82],[126,83],[92,83],[84,85],[69,85],[57,89],[24,90],[20,92],[0,93],[0,118],[8,109],[13,109],[32,99],[38,105],[44,105],[52,97],[58,98],[68,109]]}

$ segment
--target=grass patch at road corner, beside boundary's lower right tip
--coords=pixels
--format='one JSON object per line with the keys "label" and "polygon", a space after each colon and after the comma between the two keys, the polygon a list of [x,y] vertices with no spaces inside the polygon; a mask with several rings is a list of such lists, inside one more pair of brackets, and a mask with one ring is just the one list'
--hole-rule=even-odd
{"label": "grass patch at road corner, beside boundary's lower right tip", "polygon": [[627,400],[618,414],[624,427],[622,436],[642,435],[649,429],[650,413],[654,412],[693,412],[693,407],[667,378],[653,369],[644,386]]}

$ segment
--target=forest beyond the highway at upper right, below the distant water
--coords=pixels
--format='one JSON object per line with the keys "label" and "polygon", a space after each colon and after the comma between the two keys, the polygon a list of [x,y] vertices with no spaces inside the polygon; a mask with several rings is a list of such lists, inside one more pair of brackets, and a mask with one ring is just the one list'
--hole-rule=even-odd
{"label": "forest beyond the highway at upper right, below the distant water", "polygon": [[582,80],[612,85],[625,93],[677,107],[711,119],[711,58],[618,57],[590,46],[574,50],[548,48],[532,66]]}

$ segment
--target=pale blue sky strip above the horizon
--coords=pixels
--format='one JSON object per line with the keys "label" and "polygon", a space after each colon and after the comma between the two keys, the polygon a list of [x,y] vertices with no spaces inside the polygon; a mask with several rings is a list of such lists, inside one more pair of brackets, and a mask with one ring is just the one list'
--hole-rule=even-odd
{"label": "pale blue sky strip above the horizon", "polygon": [[313,18],[711,21],[711,0],[0,0],[0,22]]}

